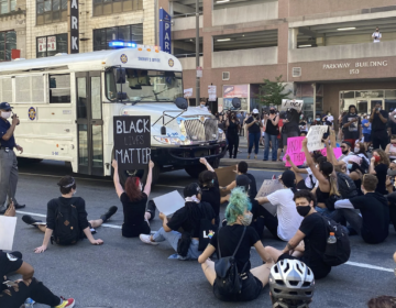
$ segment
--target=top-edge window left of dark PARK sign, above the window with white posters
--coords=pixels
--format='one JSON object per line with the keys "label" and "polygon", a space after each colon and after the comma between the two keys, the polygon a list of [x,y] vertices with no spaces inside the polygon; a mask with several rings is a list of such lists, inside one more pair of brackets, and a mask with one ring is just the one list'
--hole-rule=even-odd
{"label": "top-edge window left of dark PARK sign, above the window with white posters", "polygon": [[67,0],[36,0],[37,25],[58,21],[67,21]]}

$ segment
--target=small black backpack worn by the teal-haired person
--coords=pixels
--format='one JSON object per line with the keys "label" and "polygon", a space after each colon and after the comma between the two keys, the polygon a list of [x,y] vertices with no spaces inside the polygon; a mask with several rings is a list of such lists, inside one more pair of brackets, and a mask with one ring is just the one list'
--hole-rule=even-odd
{"label": "small black backpack worn by the teal-haired person", "polygon": [[[242,278],[240,276],[240,273],[238,273],[238,266],[234,256],[242,243],[245,232],[246,232],[246,227],[243,227],[242,237],[237,245],[234,253],[231,256],[224,256],[224,257],[221,257],[220,242],[218,234],[219,260],[215,261],[216,279],[213,286],[217,288],[217,292],[221,296],[230,297],[239,294],[242,289]],[[246,265],[243,267],[243,271]]]}

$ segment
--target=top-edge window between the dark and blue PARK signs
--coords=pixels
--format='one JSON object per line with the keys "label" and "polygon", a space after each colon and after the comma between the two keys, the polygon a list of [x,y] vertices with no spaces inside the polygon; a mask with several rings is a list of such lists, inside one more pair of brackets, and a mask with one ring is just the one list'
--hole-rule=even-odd
{"label": "top-edge window between the dark and blue PARK signs", "polygon": [[143,10],[143,0],[94,0],[94,16]]}

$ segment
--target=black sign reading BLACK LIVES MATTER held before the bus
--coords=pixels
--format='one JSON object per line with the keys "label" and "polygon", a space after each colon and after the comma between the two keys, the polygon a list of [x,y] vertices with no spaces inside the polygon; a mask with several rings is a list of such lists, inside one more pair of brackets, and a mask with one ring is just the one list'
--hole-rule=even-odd
{"label": "black sign reading BLACK LIVES MATTER held before the bus", "polygon": [[114,160],[120,169],[142,169],[151,160],[148,116],[113,117]]}

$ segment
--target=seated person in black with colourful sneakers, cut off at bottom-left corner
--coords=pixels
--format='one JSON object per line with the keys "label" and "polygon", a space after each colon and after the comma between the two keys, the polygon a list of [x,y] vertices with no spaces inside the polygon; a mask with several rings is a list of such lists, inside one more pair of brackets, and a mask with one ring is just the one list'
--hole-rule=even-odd
{"label": "seated person in black with colourful sneakers, cut off at bottom-left corner", "polygon": [[[7,275],[11,273],[22,275],[22,279],[8,280]],[[22,254],[6,253],[0,250],[0,307],[20,308],[28,298],[54,308],[75,306],[74,298],[55,296],[42,282],[34,278],[33,274],[32,265],[22,261]]]}

